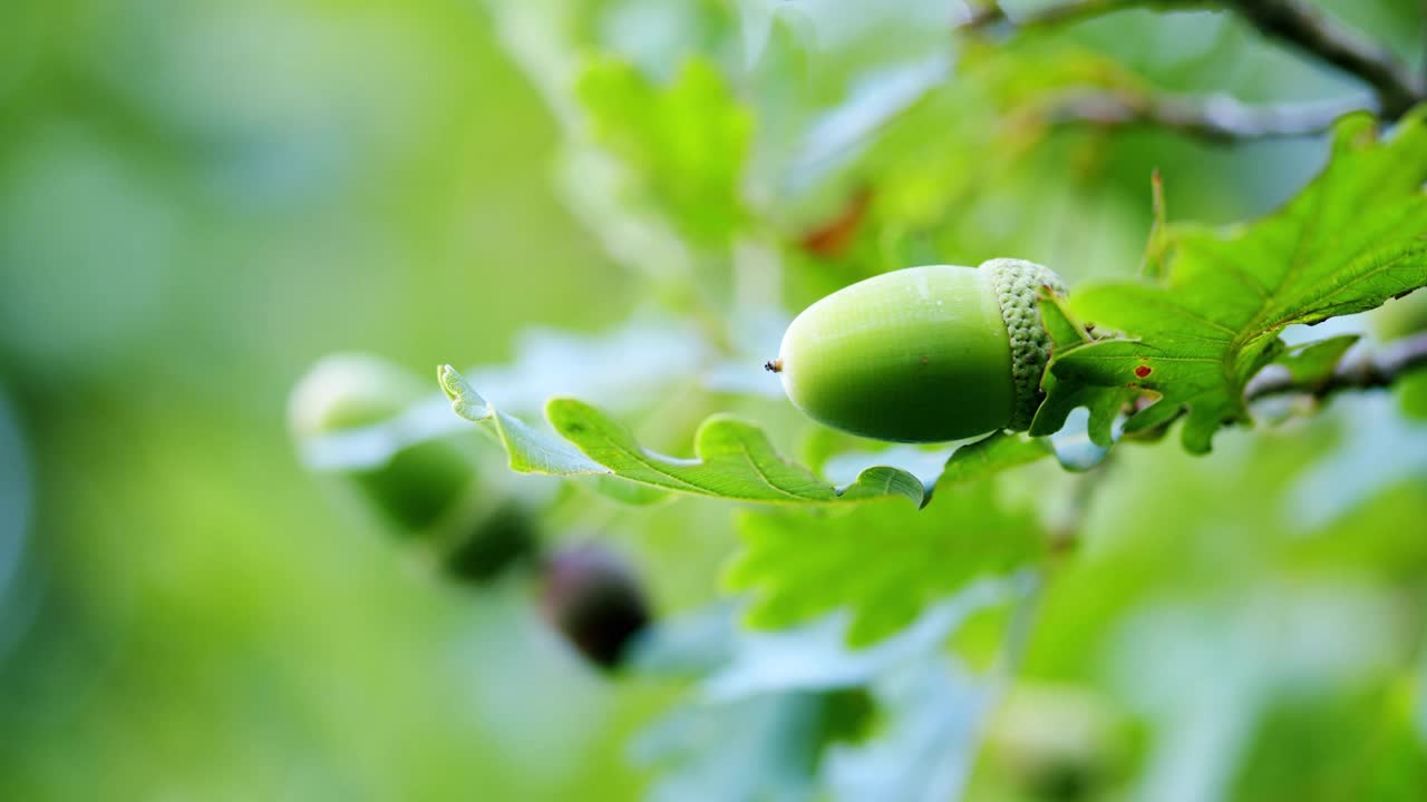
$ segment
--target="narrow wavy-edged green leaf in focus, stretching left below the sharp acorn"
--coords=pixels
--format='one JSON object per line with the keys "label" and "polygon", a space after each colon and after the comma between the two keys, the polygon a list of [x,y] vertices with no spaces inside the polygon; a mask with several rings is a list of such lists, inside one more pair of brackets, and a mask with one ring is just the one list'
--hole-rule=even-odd
{"label": "narrow wavy-edged green leaf in focus, stretching left below the sharp acorn", "polygon": [[[561,477],[595,475],[601,484],[632,482],[666,492],[708,495],[759,504],[832,504],[902,497],[920,507],[922,482],[898,468],[862,471],[838,488],[808,468],[785,461],[758,427],[728,415],[705,420],[694,437],[694,460],[655,454],[628,428],[595,407],[574,398],[554,398],[545,417],[549,434],[495,410],[450,365],[438,372],[457,415],[481,424],[509,455],[511,469]],[[646,494],[636,494],[648,502]],[[625,494],[616,494],[625,498]],[[915,509],[915,508],[912,508]]]}

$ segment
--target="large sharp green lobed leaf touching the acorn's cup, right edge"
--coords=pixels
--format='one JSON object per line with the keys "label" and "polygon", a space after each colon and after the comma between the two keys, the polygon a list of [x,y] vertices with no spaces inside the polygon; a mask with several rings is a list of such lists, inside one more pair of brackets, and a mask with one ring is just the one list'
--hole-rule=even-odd
{"label": "large sharp green lobed leaf touching the acorn's cup, right edge", "polygon": [[[1343,118],[1323,173],[1280,211],[1250,225],[1173,227],[1163,281],[1077,291],[1079,320],[1124,337],[1062,342],[1033,432],[1089,405],[1102,418],[1120,391],[1159,400],[1124,434],[1184,415],[1184,448],[1246,422],[1244,385],[1284,351],[1293,324],[1374,308],[1427,284],[1427,127],[1418,111],[1381,140],[1367,114]],[[1110,390],[1116,392],[1109,392]]]}

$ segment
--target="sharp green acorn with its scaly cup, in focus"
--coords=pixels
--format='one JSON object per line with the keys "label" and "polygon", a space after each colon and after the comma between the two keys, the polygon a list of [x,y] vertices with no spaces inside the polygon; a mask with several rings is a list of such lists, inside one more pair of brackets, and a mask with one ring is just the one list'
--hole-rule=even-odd
{"label": "sharp green acorn with its scaly cup, in focus", "polygon": [[1065,294],[1065,283],[1012,258],[886,273],[803,310],[765,367],[795,407],[859,437],[945,442],[1025,431],[1045,400],[1045,291]]}

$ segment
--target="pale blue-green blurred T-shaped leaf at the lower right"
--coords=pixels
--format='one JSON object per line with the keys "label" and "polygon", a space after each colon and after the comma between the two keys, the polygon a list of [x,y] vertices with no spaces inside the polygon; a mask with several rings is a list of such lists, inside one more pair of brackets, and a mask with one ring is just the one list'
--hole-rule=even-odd
{"label": "pale blue-green blurred T-shaped leaf at the lower right", "polygon": [[1136,609],[1110,661],[1117,696],[1157,729],[1134,798],[1229,798],[1267,706],[1360,682],[1403,659],[1393,636],[1403,612],[1388,594],[1353,584]]}

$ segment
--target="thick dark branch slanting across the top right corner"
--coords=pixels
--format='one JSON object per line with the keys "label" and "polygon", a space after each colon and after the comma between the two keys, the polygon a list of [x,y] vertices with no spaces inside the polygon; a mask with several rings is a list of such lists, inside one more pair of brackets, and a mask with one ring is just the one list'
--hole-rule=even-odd
{"label": "thick dark branch slanting across the top right corner", "polygon": [[1264,36],[1287,41],[1366,81],[1377,91],[1380,111],[1390,120],[1423,100],[1421,83],[1391,53],[1304,0],[1223,1]]}

